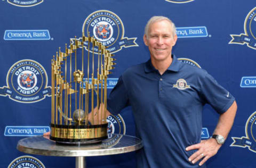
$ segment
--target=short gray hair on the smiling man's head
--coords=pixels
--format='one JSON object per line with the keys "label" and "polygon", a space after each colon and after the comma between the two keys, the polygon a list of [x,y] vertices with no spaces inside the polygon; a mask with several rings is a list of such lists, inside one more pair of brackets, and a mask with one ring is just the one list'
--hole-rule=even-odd
{"label": "short gray hair on the smiling man's head", "polygon": [[166,18],[164,16],[153,16],[152,18],[149,19],[149,21],[147,22],[146,27],[145,27],[144,34],[146,35],[147,38],[148,38],[148,33],[149,33],[149,27],[151,26],[151,24],[158,22],[158,21],[162,21],[162,20],[166,20],[166,21],[170,22],[171,27],[172,27],[172,35],[173,35],[173,37],[176,35],[175,24],[169,18]]}

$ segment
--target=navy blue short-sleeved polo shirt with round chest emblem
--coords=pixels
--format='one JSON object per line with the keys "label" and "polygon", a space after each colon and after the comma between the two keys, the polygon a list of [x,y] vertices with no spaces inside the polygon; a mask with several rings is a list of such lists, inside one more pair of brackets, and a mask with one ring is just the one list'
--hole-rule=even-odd
{"label": "navy blue short-sleeved polo shirt with round chest emblem", "polygon": [[111,91],[107,109],[118,114],[132,106],[137,136],[144,145],[137,152],[139,168],[199,167],[199,162],[188,161],[196,150],[185,148],[201,141],[203,106],[208,103],[221,114],[234,100],[205,70],[173,56],[162,75],[151,60],[127,69]]}

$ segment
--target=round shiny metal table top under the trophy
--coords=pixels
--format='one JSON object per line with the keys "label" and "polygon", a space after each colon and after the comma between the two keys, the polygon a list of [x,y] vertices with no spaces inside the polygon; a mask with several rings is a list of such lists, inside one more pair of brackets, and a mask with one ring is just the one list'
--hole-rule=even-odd
{"label": "round shiny metal table top under the trophy", "polygon": [[20,152],[46,156],[103,156],[132,152],[143,147],[139,138],[110,134],[101,144],[69,146],[56,144],[45,136],[23,138],[18,141]]}

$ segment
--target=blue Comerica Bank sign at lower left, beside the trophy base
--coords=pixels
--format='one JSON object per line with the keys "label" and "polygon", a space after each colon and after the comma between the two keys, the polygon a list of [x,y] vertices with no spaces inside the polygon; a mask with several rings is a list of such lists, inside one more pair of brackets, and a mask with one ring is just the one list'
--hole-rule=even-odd
{"label": "blue Comerica Bank sign at lower left, beside the trophy base", "polygon": [[4,136],[40,136],[49,131],[50,127],[6,126]]}

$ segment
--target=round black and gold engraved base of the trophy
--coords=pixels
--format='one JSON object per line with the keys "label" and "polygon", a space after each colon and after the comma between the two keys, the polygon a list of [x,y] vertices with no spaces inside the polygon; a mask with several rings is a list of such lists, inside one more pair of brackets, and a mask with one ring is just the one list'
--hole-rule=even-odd
{"label": "round black and gold engraved base of the trophy", "polygon": [[100,144],[107,139],[108,123],[99,125],[58,125],[51,124],[50,139],[61,145]]}

